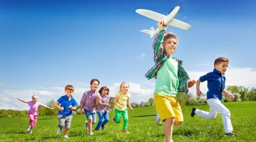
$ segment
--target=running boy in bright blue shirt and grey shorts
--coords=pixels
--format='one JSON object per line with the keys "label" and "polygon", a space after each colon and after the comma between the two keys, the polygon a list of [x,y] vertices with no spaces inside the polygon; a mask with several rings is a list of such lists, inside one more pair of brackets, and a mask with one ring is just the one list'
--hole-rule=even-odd
{"label": "running boy in bright blue shirt and grey shorts", "polygon": [[72,110],[76,110],[76,100],[72,97],[74,92],[74,87],[72,85],[67,85],[65,87],[65,96],[61,96],[57,102],[55,103],[57,108],[59,109],[58,112],[58,131],[57,135],[59,135],[63,128],[65,128],[64,138],[69,138],[68,133],[71,126],[72,121]]}

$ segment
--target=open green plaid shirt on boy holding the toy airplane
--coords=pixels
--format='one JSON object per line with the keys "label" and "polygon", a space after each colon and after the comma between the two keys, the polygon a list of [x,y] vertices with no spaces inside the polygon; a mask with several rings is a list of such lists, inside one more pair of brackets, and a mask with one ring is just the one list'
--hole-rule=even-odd
{"label": "open green plaid shirt on boy holding the toy airplane", "polygon": [[[148,70],[148,72],[145,74],[145,77],[148,79],[157,78],[157,72],[158,70],[163,66],[163,63],[166,59],[168,59],[168,55],[164,53],[163,51],[163,38],[166,34],[165,30],[161,30],[153,43],[153,49],[154,49],[154,61],[155,65]],[[178,79],[179,79],[179,91],[183,91],[185,93],[188,93],[188,86],[187,81],[189,80],[188,74],[186,73],[185,69],[182,67],[182,60],[173,58],[178,62]]]}

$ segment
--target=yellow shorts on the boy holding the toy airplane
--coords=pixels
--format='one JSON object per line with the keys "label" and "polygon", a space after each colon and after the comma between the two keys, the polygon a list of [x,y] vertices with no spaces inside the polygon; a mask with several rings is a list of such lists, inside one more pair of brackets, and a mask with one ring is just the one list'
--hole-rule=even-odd
{"label": "yellow shorts on the boy holding the toy airplane", "polygon": [[183,114],[178,97],[171,97],[166,94],[155,93],[154,99],[156,110],[162,121],[175,117],[175,121],[183,122]]}

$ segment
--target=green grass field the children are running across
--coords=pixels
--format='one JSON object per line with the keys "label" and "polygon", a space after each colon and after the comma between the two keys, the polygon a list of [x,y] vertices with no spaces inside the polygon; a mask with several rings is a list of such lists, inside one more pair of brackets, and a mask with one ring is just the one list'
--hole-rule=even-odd
{"label": "green grass field the children are running across", "polygon": [[[174,141],[256,141],[256,102],[230,102],[224,104],[231,112],[233,132],[237,137],[224,136],[221,114],[215,120],[190,117],[191,108],[183,109],[184,123],[174,127]],[[208,111],[208,105],[196,105]],[[74,115],[69,132],[70,139],[56,135],[58,120],[56,116],[39,116],[32,134],[26,131],[28,117],[0,119],[0,141],[164,141],[163,124],[155,124],[155,107],[135,108],[129,111],[129,134],[122,133],[122,121],[108,122],[105,130],[88,134],[84,128],[86,116]],[[114,111],[110,112],[110,119]],[[95,126],[94,126],[95,127]]]}

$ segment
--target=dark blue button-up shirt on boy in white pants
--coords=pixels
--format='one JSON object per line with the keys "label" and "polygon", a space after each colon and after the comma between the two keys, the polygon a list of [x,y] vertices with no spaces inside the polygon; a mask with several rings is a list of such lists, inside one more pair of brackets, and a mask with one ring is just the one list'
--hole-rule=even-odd
{"label": "dark blue button-up shirt on boy in white pants", "polygon": [[210,72],[199,78],[201,82],[207,81],[207,100],[217,98],[222,100],[222,91],[225,89],[225,75],[221,74],[216,68],[214,72]]}

